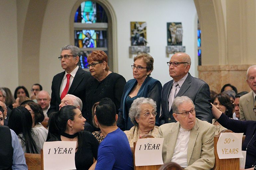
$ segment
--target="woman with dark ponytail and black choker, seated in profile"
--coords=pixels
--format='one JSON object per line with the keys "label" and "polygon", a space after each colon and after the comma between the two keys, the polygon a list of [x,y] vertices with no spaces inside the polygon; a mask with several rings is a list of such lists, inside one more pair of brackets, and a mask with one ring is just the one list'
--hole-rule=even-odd
{"label": "woman with dark ponytail and black choker, seated in profile", "polygon": [[63,106],[49,118],[50,141],[76,141],[75,167],[77,170],[88,170],[97,159],[99,142],[88,131],[84,131],[84,122],[81,111],[72,105]]}

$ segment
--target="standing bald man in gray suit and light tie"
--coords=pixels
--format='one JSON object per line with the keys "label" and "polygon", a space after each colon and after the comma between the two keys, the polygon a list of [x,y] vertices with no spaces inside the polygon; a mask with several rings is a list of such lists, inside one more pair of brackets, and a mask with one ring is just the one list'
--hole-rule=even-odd
{"label": "standing bald man in gray suit and light tie", "polygon": [[190,56],[185,53],[176,53],[167,64],[169,66],[169,74],[173,80],[163,86],[160,124],[176,122],[171,107],[176,96],[190,97],[195,105],[196,118],[211,123],[212,114],[209,86],[204,81],[190,75]]}

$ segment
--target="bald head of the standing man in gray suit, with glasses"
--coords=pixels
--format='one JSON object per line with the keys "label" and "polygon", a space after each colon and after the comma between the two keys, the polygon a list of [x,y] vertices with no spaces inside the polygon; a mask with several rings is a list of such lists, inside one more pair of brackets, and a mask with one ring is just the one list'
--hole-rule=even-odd
{"label": "bald head of the standing man in gray suit, with glasses", "polygon": [[191,59],[188,54],[176,53],[171,57],[169,74],[175,82],[178,82],[189,72],[190,65]]}

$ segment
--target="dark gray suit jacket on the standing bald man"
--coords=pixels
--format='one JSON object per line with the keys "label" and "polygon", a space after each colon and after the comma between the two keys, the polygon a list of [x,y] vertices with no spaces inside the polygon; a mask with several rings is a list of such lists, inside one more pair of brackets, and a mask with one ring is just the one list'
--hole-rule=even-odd
{"label": "dark gray suit jacket on the standing bald man", "polygon": [[[170,95],[172,85],[173,80],[163,86],[161,96],[162,115],[160,116],[160,125],[176,122],[173,117],[173,109],[171,108],[171,110],[169,111],[168,102],[168,97]],[[195,117],[200,120],[205,120],[209,123],[212,123],[210,104],[211,97],[210,89],[207,83],[200,79],[192,77],[189,73],[187,79],[177,93],[177,96],[188,96],[189,98],[191,98],[196,109]]]}

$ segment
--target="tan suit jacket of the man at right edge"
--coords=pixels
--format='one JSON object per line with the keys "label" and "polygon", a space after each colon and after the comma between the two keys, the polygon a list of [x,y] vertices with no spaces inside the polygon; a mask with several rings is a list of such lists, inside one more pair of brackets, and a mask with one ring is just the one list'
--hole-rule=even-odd
{"label": "tan suit jacket of the man at right edge", "polygon": [[253,91],[243,95],[239,99],[240,119],[239,120],[254,120],[256,121],[256,115],[253,111]]}

